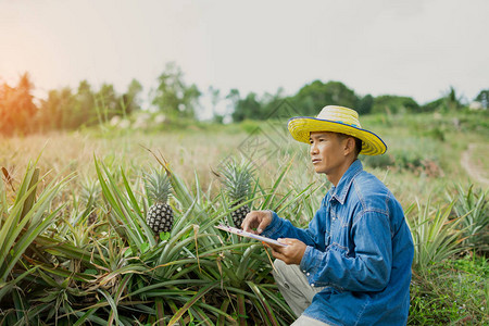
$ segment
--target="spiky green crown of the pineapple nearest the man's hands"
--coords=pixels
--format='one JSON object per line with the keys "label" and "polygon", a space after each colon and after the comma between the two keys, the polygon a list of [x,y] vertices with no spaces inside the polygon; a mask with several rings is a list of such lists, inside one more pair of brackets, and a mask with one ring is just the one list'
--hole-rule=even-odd
{"label": "spiky green crown of the pineapple nearest the man's hands", "polygon": [[254,177],[254,168],[251,162],[243,161],[240,164],[231,160],[220,168],[225,192],[233,201],[240,202],[248,199],[251,193],[251,181]]}

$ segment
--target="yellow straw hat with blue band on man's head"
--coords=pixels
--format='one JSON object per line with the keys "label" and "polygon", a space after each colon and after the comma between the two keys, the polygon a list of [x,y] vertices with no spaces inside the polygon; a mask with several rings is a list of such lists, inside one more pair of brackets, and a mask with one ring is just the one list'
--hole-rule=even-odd
{"label": "yellow straw hat with blue band on man's head", "polygon": [[289,120],[289,131],[292,137],[309,143],[312,131],[331,131],[353,136],[362,140],[361,154],[379,155],[387,150],[386,143],[372,131],[362,129],[356,111],[336,105],[321,110],[316,117],[297,116]]}

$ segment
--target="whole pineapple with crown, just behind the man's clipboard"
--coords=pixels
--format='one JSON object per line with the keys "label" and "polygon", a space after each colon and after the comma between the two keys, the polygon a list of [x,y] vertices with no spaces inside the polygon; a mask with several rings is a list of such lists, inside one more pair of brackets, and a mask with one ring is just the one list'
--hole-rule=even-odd
{"label": "whole pineapple with crown, just behind the man's clipboard", "polygon": [[[235,161],[229,161],[220,168],[220,172],[225,192],[233,202],[231,208],[240,205],[251,193],[251,180],[253,179],[254,171],[250,163],[238,164]],[[242,205],[231,212],[233,223],[236,227],[241,227],[242,221],[248,213],[250,213],[248,205]]]}

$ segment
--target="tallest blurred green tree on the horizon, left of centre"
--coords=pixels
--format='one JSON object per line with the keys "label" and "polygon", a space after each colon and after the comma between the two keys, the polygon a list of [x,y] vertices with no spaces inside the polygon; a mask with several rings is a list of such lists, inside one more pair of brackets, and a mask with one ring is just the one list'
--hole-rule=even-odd
{"label": "tallest blurred green tree on the horizon, left of centre", "polygon": [[201,92],[195,84],[187,86],[181,70],[171,62],[166,64],[158,80],[160,84],[155,90],[153,105],[171,116],[195,118]]}

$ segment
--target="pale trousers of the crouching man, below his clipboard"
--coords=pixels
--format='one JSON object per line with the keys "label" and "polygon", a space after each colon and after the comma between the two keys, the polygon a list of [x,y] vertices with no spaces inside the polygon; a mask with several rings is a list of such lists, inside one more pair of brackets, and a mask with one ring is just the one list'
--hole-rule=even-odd
{"label": "pale trousers of the crouching man, below his clipboard", "polygon": [[313,297],[323,288],[312,287],[299,265],[287,265],[280,260],[274,262],[274,278],[281,296],[299,318],[293,326],[327,326],[323,322],[302,315],[311,305]]}

